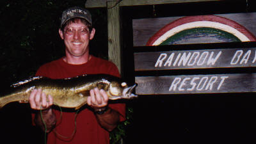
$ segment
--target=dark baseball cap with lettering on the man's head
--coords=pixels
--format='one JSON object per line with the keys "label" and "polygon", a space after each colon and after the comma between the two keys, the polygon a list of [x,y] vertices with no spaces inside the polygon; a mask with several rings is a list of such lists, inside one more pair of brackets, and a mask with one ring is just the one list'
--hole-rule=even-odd
{"label": "dark baseball cap with lettering on the man's head", "polygon": [[81,8],[79,6],[74,6],[71,8],[68,8],[62,13],[61,16],[61,24],[60,28],[70,19],[79,17],[81,19],[85,19],[88,21],[88,23],[92,26],[92,15],[91,13],[86,10],[85,8]]}

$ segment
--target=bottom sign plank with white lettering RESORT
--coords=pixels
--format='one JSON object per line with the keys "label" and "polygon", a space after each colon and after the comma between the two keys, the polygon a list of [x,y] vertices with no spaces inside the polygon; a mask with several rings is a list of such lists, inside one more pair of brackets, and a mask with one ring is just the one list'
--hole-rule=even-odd
{"label": "bottom sign plank with white lettering RESORT", "polygon": [[135,77],[136,94],[256,92],[256,74]]}

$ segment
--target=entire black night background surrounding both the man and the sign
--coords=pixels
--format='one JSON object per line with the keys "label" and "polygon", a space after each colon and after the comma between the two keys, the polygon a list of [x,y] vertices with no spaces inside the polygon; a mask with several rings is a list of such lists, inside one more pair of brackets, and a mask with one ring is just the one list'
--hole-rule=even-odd
{"label": "entire black night background surrounding both the man and the sign", "polygon": [[[161,4],[155,9],[153,6],[122,7],[122,76],[132,82],[138,75],[133,69],[136,47],[132,45],[132,19],[255,12],[255,1],[248,2],[248,5],[246,0]],[[64,55],[64,45],[58,36],[61,12],[69,6],[84,6],[84,3],[68,0],[0,2],[0,93],[8,91],[10,84],[33,76],[40,65]],[[96,28],[91,53],[107,59],[106,8],[90,11]],[[219,70],[237,72],[236,68]],[[239,70],[255,72],[254,68]],[[159,71],[159,74],[180,72]],[[208,73],[207,70],[196,72]],[[184,74],[193,74],[193,71]],[[125,101],[133,112],[131,124],[125,129],[124,143],[255,143],[255,100],[255,93],[139,95],[138,99]],[[44,132],[31,126],[30,113],[28,104],[18,102],[0,109],[0,143],[44,143]]]}

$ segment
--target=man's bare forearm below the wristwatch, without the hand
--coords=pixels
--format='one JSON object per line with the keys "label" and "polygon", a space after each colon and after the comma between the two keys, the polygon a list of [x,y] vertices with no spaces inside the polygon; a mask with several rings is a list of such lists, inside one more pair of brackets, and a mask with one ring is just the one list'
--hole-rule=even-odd
{"label": "man's bare forearm below the wristwatch, without the hand", "polygon": [[108,108],[103,114],[95,113],[99,124],[106,130],[112,131],[120,120],[120,114],[114,109]]}

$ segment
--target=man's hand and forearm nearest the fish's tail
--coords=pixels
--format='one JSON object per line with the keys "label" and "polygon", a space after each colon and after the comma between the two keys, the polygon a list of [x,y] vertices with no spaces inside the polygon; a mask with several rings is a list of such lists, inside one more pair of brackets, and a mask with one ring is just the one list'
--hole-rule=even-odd
{"label": "man's hand and forearm nearest the fish's tail", "polygon": [[29,95],[29,104],[31,109],[38,110],[36,111],[34,118],[35,124],[41,127],[43,131],[45,131],[46,126],[46,132],[51,132],[56,125],[56,116],[51,109],[53,104],[52,96],[48,95],[47,99],[47,96],[42,92],[41,89],[35,89]]}

